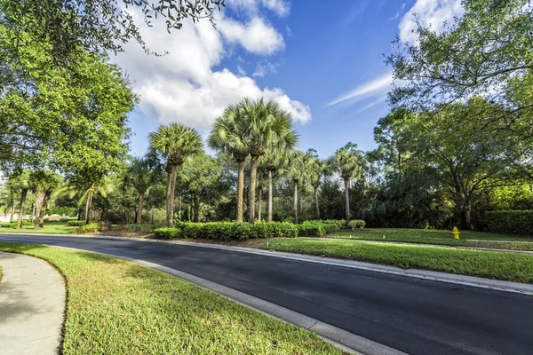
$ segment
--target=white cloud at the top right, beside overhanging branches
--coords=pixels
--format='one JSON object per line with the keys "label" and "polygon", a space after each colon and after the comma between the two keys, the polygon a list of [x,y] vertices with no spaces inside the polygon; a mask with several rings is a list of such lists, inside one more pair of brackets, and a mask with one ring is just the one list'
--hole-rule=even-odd
{"label": "white cloud at the top right, beside overhanging branches", "polygon": [[442,30],[445,21],[453,20],[464,12],[461,0],[417,0],[400,21],[400,39],[410,44],[417,43],[417,20],[434,30]]}

